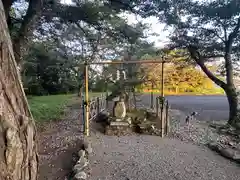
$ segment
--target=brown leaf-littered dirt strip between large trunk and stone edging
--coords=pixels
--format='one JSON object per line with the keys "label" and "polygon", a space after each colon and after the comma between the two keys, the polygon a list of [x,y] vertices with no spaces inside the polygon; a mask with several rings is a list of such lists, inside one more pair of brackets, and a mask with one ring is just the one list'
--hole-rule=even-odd
{"label": "brown leaf-littered dirt strip between large trunk and stone edging", "polygon": [[76,103],[66,109],[63,120],[47,124],[39,132],[39,180],[65,180],[71,175],[82,144],[79,113],[80,105]]}

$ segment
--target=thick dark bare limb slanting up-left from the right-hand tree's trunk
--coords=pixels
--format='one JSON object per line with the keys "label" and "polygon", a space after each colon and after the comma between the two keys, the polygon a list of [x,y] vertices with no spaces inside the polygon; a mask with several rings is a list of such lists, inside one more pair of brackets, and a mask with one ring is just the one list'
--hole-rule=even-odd
{"label": "thick dark bare limb slanting up-left from the right-hand tree's trunk", "polygon": [[190,52],[191,57],[196,61],[196,63],[200,66],[202,71],[211,79],[214,83],[216,83],[221,88],[225,89],[226,83],[217,78],[204,64],[204,58],[200,55],[197,48],[195,46],[189,46],[188,51]]}

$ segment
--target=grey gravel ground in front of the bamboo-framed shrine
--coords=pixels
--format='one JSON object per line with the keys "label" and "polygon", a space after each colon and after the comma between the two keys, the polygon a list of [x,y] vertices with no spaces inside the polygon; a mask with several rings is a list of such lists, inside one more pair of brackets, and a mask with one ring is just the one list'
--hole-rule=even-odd
{"label": "grey gravel ground in front of the bamboo-framed shrine", "polygon": [[111,137],[93,129],[91,180],[240,180],[238,164],[200,145],[204,126],[196,128],[194,122],[189,130],[183,124],[185,114],[172,114],[178,119],[174,138]]}

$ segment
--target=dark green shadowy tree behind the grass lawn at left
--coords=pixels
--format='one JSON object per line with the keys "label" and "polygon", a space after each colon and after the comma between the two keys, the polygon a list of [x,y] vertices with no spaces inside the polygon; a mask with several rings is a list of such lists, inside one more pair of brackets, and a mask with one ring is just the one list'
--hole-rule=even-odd
{"label": "dark green shadowy tree behind the grass lawn at left", "polygon": [[72,92],[78,87],[74,57],[60,56],[51,42],[35,43],[25,59],[22,76],[28,94]]}

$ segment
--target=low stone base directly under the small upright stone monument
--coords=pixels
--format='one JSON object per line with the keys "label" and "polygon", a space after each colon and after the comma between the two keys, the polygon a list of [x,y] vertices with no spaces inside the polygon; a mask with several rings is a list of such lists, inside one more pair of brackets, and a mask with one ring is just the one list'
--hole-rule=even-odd
{"label": "low stone base directly under the small upright stone monument", "polygon": [[133,134],[133,130],[127,122],[114,121],[106,126],[105,134],[108,136],[126,136]]}

